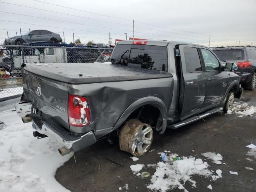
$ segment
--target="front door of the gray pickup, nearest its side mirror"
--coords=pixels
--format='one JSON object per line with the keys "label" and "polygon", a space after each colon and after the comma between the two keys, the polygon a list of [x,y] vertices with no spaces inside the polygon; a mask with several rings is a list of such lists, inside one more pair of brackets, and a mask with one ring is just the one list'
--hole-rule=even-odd
{"label": "front door of the gray pickup, nearest its side mirror", "polygon": [[203,108],[220,104],[228,87],[227,74],[221,71],[221,64],[211,50],[199,47],[206,74],[206,97]]}

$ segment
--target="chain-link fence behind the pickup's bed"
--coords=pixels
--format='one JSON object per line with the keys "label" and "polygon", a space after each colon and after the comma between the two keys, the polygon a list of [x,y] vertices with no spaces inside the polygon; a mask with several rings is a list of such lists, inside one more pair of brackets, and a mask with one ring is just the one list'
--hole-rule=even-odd
{"label": "chain-link fence behind the pickup's bed", "polygon": [[22,94],[22,66],[45,63],[107,62],[112,48],[74,47],[58,44],[43,46],[0,45],[0,101]]}

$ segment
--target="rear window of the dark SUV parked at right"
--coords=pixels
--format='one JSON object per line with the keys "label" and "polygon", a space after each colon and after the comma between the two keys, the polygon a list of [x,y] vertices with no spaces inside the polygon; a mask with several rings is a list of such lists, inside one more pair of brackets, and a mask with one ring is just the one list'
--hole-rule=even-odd
{"label": "rear window of the dark SUV parked at right", "polygon": [[243,60],[244,50],[233,49],[233,50],[214,50],[214,53],[218,56],[220,60]]}

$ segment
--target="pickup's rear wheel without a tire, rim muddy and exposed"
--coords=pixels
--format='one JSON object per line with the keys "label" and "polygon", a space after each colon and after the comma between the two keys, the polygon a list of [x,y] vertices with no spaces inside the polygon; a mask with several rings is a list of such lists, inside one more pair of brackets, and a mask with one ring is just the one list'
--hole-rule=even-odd
{"label": "pickup's rear wheel without a tire, rim muddy and exposed", "polygon": [[142,156],[148,152],[153,140],[153,130],[148,124],[138,119],[131,119],[124,124],[119,135],[120,150],[133,156]]}

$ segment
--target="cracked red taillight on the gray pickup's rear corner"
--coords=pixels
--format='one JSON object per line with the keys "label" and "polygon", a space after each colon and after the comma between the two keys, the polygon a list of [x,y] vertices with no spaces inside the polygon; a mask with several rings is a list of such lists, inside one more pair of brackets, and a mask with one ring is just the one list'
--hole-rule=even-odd
{"label": "cracked red taillight on the gray pickup's rear corner", "polygon": [[68,95],[68,122],[72,126],[82,127],[90,124],[91,112],[85,97]]}

